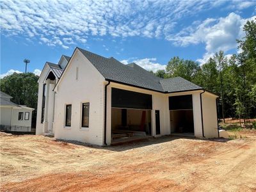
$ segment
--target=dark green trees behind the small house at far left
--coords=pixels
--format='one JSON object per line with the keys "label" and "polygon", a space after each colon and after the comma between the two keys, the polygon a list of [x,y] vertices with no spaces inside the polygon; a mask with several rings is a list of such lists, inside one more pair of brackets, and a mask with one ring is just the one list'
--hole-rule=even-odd
{"label": "dark green trees behind the small house at far left", "polygon": [[14,73],[0,79],[1,91],[11,95],[12,101],[34,108],[32,122],[36,122],[36,108],[38,95],[38,76],[33,73]]}

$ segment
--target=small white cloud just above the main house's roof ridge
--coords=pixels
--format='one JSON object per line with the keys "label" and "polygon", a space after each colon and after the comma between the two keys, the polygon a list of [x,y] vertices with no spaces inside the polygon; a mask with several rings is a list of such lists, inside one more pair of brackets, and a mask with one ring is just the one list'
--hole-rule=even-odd
{"label": "small white cloud just above the main house's roof ridge", "polygon": [[137,60],[122,60],[121,63],[124,63],[127,65],[128,63],[136,63],[140,67],[144,68],[145,70],[152,70],[153,72],[156,72],[157,70],[165,70],[166,65],[161,65],[160,63],[156,62],[156,58],[143,58],[143,59],[137,59]]}

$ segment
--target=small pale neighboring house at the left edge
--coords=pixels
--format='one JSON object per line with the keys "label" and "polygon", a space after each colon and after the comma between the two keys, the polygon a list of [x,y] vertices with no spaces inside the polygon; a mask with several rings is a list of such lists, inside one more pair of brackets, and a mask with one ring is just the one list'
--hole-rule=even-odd
{"label": "small pale neighboring house at the left edge", "polygon": [[21,106],[11,101],[12,97],[0,92],[1,131],[31,132],[33,108]]}

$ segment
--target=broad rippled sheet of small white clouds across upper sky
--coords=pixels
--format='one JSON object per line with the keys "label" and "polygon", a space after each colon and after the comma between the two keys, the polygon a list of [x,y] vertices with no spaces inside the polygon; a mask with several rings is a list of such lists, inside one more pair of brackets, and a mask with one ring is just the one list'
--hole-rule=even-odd
{"label": "broad rippled sheet of small white clouds across upper sky", "polygon": [[68,49],[76,42],[85,44],[89,36],[164,38],[184,17],[221,4],[222,1],[10,0],[1,2],[0,24],[6,36],[24,35]]}

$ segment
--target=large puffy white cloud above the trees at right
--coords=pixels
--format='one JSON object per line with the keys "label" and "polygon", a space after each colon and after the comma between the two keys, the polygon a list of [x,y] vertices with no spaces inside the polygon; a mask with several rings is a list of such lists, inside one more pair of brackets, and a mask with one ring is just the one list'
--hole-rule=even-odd
{"label": "large puffy white cloud above the trees at right", "polygon": [[256,17],[243,19],[236,13],[230,13],[227,17],[220,17],[219,19],[205,19],[200,24],[198,21],[194,22],[177,35],[169,35],[166,39],[183,47],[191,44],[204,44],[206,52],[203,58],[197,61],[205,63],[214,52],[236,49],[236,40],[244,36],[244,24],[247,20],[252,19],[256,19]]}

